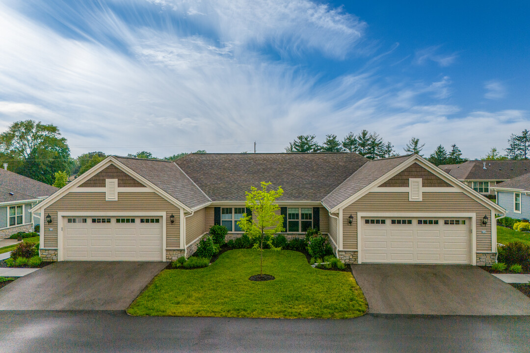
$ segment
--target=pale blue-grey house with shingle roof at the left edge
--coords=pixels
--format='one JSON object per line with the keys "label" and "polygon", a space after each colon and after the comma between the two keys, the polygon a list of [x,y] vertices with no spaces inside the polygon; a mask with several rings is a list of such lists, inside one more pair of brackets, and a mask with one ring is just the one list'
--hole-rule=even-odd
{"label": "pale blue-grey house with shingle roof at the left edge", "polygon": [[58,189],[25,176],[0,169],[0,239],[31,232],[40,220],[31,208]]}

